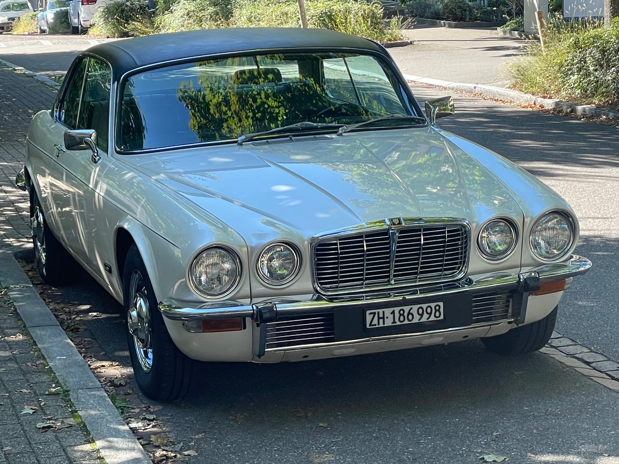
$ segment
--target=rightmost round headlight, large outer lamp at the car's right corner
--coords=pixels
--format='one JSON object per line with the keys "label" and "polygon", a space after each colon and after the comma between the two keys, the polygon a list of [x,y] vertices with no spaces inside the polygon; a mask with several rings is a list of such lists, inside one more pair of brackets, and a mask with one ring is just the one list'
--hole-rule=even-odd
{"label": "rightmost round headlight, large outer lamp at the car's right corner", "polygon": [[540,259],[557,259],[568,251],[573,238],[573,225],[565,215],[547,213],[535,221],[531,228],[531,249]]}

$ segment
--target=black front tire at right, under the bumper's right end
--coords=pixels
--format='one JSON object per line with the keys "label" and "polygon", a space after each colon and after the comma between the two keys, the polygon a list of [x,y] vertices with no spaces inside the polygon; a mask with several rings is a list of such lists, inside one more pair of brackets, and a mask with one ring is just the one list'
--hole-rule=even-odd
{"label": "black front tire at right, under the bumper's right end", "polygon": [[543,348],[555,330],[558,306],[548,316],[532,324],[522,325],[496,337],[482,338],[482,342],[493,353],[516,356],[532,353]]}

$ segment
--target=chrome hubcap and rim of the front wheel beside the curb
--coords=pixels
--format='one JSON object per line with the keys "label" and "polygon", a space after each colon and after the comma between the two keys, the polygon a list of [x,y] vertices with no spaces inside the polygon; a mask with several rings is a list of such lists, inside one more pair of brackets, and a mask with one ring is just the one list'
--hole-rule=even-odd
{"label": "chrome hubcap and rim of the front wheel beside the curb", "polygon": [[133,271],[129,283],[127,327],[133,337],[137,359],[144,372],[149,372],[153,362],[150,307],[144,278],[138,270]]}

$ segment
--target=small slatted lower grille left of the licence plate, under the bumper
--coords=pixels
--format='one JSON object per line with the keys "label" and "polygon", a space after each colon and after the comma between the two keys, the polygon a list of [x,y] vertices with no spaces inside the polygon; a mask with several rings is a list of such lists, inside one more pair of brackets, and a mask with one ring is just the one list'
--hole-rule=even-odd
{"label": "small slatted lower grille left of the licence plate, under the bumper", "polygon": [[266,348],[333,342],[333,313],[280,316],[267,324]]}

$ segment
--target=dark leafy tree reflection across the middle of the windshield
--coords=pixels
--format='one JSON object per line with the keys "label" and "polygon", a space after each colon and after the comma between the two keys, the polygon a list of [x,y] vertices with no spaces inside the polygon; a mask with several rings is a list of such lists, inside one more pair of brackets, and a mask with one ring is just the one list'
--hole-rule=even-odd
{"label": "dark leafy tree reflection across the middle of the windshield", "polygon": [[[255,67],[248,67],[248,58]],[[325,89],[320,57],[297,58],[270,55],[196,63],[197,82],[181,82],[177,94],[189,110],[189,127],[200,141],[225,140],[302,121],[352,124],[389,114],[379,99],[361,106],[350,77],[339,82],[338,98],[332,97]],[[296,75],[285,73],[291,63],[298,66]]]}

